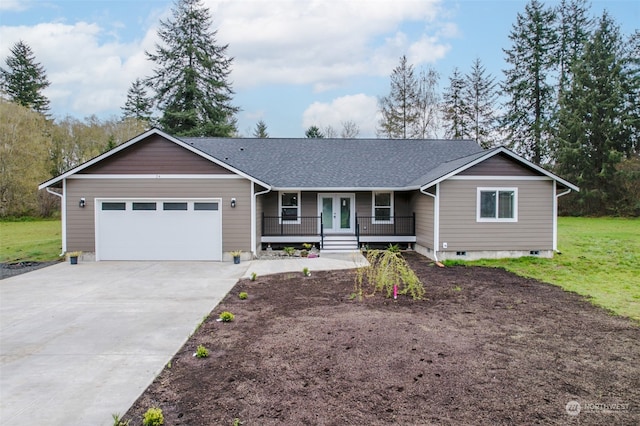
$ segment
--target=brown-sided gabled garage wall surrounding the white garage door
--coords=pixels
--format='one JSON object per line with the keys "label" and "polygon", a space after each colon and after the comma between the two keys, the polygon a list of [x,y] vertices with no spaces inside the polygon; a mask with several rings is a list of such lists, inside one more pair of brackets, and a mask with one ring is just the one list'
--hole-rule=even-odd
{"label": "brown-sided gabled garage wall surrounding the white garage door", "polygon": [[[95,252],[95,199],[222,199],[222,250],[251,251],[248,179],[151,135],[65,179],[67,250]],[[84,198],[85,207],[78,201]],[[236,207],[230,201],[236,199]]]}

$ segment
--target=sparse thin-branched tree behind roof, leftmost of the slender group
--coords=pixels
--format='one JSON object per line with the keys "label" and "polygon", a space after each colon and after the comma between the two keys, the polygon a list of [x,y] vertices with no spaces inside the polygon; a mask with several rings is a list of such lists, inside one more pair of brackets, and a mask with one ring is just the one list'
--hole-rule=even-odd
{"label": "sparse thin-branched tree behind roof, leftmost of the slender group", "polygon": [[406,56],[402,56],[400,64],[391,73],[390,93],[378,102],[382,115],[378,122],[378,136],[407,139],[419,118],[417,100],[418,80],[414,75],[413,65],[407,62]]}

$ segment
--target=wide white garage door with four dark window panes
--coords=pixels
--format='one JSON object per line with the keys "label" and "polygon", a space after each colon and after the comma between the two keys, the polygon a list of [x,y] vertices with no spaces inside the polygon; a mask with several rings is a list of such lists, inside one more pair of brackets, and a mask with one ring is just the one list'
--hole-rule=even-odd
{"label": "wide white garage door with four dark window panes", "polygon": [[97,260],[222,260],[220,199],[97,199]]}

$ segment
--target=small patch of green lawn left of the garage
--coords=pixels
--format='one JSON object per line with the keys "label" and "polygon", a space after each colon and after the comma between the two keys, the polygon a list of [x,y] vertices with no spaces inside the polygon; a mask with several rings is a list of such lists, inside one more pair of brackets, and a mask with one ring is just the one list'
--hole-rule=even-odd
{"label": "small patch of green lawn left of the garage", "polygon": [[60,220],[0,221],[0,262],[57,260]]}

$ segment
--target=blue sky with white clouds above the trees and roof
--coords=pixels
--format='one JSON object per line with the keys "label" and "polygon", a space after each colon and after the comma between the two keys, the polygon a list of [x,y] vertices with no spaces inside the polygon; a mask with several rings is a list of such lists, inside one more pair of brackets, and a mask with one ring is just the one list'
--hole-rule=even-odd
{"label": "blue sky with white clouds above the trees and roof", "polygon": [[[258,120],[271,136],[301,137],[312,124],[339,130],[354,121],[360,137],[375,136],[377,98],[401,55],[431,66],[448,84],[479,57],[498,79],[502,49],[522,0],[204,0],[218,42],[233,56],[238,130],[250,136]],[[548,1],[548,5],[557,2]],[[150,75],[145,50],[170,0],[2,0],[0,60],[22,39],[47,70],[46,95],[56,117],[120,115],[126,92]],[[640,2],[593,1],[623,34],[639,28]],[[441,136],[441,135],[435,135]]]}

